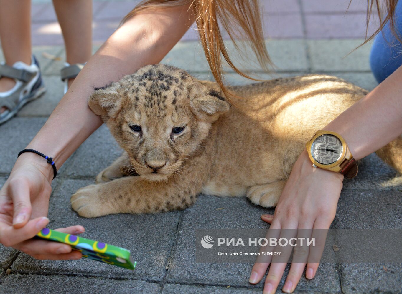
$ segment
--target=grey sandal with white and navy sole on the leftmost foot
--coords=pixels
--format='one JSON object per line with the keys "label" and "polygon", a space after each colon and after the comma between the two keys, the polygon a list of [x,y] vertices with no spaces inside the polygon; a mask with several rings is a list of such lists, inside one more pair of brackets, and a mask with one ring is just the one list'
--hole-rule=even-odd
{"label": "grey sandal with white and navy sole on the leftmost foot", "polygon": [[0,77],[8,77],[15,81],[11,90],[0,92],[0,109],[6,108],[0,114],[0,124],[12,118],[26,103],[39,98],[46,91],[39,63],[34,56],[31,65],[21,61],[14,63],[12,67],[1,64]]}

